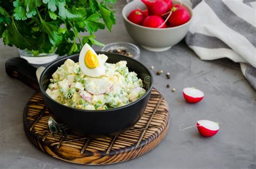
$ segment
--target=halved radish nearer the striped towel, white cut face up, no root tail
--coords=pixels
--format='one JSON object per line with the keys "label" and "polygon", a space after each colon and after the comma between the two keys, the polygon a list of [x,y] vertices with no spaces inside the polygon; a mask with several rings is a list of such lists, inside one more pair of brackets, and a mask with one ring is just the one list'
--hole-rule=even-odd
{"label": "halved radish nearer the striped towel, white cut face up, no root tail", "polygon": [[197,103],[203,100],[204,93],[193,87],[183,89],[183,96],[188,103]]}

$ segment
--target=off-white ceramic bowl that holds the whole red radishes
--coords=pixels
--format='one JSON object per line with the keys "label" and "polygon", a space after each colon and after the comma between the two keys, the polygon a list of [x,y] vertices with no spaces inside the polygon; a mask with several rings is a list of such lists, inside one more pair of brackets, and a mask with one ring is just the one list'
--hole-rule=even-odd
{"label": "off-white ceramic bowl that holds the whole red radishes", "polygon": [[[173,4],[180,4],[180,2],[173,1]],[[146,9],[146,5],[143,2],[132,1],[125,5],[122,11],[126,30],[130,36],[146,50],[154,52],[169,50],[173,45],[178,44],[179,41],[186,36],[191,20],[193,19],[193,12],[190,6],[184,3],[181,4],[190,11],[191,19],[180,26],[159,29],[140,26],[127,19],[127,16],[132,10],[137,8],[142,10]]]}

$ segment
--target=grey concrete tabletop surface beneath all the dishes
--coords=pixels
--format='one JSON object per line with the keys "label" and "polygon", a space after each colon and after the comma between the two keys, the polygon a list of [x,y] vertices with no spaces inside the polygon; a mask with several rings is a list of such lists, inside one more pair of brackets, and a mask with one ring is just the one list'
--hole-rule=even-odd
{"label": "grey concrete tabletop surface beneath all the dishes", "polygon": [[[120,16],[124,4],[125,1],[118,1],[117,24],[112,33],[98,32],[99,41],[136,44]],[[26,138],[22,112],[35,90],[5,74],[5,61],[18,57],[18,51],[0,44],[0,168],[256,168],[256,94],[239,65],[226,59],[202,61],[184,42],[166,52],[140,50],[140,61],[146,66],[171,73],[170,80],[154,75],[155,86],[162,86],[161,93],[171,109],[169,132],[155,149],[137,159],[107,166],[83,166],[52,158]],[[176,92],[165,91],[167,83]],[[185,87],[204,91],[204,100],[186,103],[182,95]],[[199,119],[219,122],[220,131],[214,137],[204,138],[196,128],[178,130],[179,125],[195,125]]]}

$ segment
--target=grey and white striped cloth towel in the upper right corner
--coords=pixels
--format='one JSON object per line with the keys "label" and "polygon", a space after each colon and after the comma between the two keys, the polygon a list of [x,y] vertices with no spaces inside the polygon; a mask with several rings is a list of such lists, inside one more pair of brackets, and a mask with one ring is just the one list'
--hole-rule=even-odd
{"label": "grey and white striped cloth towel in the upper right corner", "polygon": [[192,0],[187,45],[200,59],[229,58],[256,90],[256,1]]}

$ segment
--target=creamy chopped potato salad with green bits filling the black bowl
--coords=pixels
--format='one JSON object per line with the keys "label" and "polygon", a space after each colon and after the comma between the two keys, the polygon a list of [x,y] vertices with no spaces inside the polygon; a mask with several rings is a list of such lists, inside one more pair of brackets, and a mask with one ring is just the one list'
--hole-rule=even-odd
{"label": "creamy chopped potato salad with green bits filling the black bowl", "polygon": [[[107,57],[104,54],[97,57],[99,64],[95,67],[100,68],[100,59],[106,61]],[[97,58],[83,58],[82,61],[85,60],[84,65],[93,68],[93,59]],[[80,61],[75,63],[67,59],[52,74],[46,93],[53,100],[77,109],[106,110],[134,102],[146,93],[142,88],[142,80],[136,73],[129,72],[126,61],[119,61],[116,64],[104,62],[104,74],[97,77],[83,73],[79,64]]]}

